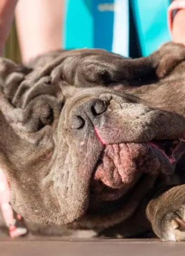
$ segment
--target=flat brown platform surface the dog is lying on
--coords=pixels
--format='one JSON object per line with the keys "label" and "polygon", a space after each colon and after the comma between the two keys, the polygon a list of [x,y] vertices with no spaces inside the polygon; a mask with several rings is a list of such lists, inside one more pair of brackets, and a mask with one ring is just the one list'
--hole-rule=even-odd
{"label": "flat brown platform surface the dog is lying on", "polygon": [[0,256],[184,256],[184,242],[2,238]]}

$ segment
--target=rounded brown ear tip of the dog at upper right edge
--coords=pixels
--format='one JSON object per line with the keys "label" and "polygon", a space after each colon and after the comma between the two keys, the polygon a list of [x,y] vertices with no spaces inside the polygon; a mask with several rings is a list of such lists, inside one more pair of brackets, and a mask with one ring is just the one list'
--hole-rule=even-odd
{"label": "rounded brown ear tip of the dog at upper right edge", "polygon": [[156,66],[156,75],[159,79],[165,78],[173,69],[185,61],[185,45],[168,42],[163,44],[159,50],[152,55]]}

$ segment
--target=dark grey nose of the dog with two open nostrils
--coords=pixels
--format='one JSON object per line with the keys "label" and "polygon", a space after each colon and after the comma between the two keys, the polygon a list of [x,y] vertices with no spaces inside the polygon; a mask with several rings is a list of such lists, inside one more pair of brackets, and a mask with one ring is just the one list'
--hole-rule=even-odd
{"label": "dark grey nose of the dog with two open nostrils", "polygon": [[93,123],[94,119],[104,113],[107,109],[107,103],[100,99],[87,100],[80,103],[72,110],[70,126],[73,129],[81,129],[87,121]]}

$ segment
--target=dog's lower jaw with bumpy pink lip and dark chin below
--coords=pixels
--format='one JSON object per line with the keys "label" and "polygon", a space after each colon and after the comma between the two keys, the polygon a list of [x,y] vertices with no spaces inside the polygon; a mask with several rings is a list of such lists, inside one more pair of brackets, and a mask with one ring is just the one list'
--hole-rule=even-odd
{"label": "dog's lower jaw with bumpy pink lip and dark chin below", "polygon": [[174,172],[174,141],[105,145],[91,182],[91,201],[117,200],[132,188],[143,173]]}

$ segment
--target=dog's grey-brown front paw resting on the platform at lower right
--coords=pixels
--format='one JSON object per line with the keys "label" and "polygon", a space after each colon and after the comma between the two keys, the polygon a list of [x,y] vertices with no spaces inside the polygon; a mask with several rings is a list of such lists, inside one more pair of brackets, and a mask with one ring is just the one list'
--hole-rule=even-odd
{"label": "dog's grey-brown front paw resting on the platform at lower right", "polygon": [[146,216],[163,241],[185,241],[185,184],[159,189],[146,207]]}

